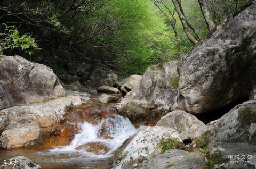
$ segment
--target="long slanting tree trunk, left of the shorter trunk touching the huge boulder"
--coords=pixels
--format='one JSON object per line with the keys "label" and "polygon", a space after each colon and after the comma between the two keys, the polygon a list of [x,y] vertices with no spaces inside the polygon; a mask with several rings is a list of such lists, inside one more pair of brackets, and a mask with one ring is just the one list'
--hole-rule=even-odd
{"label": "long slanting tree trunk, left of the shorter trunk touching the huge boulder", "polygon": [[174,5],[174,7],[175,7],[175,9],[176,9],[176,12],[177,12],[178,15],[179,15],[179,18],[180,18],[180,21],[181,21],[181,23],[182,23],[183,29],[184,29],[184,31],[185,31],[185,33],[186,33],[188,39],[191,41],[191,43],[197,44],[197,43],[198,43],[198,40],[196,40],[196,38],[193,37],[193,36],[191,35],[191,33],[189,32],[188,22],[187,22],[185,16],[183,15],[183,13],[182,13],[182,11],[181,11],[181,9],[180,9],[179,3],[178,3],[177,1],[178,1],[178,0],[172,0],[173,5]]}

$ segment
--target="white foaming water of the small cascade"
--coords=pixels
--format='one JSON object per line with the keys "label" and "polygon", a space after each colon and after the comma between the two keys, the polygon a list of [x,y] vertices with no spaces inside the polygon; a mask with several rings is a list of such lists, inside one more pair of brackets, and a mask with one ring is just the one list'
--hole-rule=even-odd
{"label": "white foaming water of the small cascade", "polygon": [[[120,115],[112,115],[101,119],[97,124],[84,122],[81,124],[81,132],[76,134],[70,145],[61,146],[51,149],[51,153],[83,153],[89,157],[107,158],[113,156],[115,150],[122,145],[122,143],[129,137],[133,136],[136,129],[129,119]],[[103,132],[113,139],[102,139],[100,133]],[[103,145],[108,146],[110,149],[105,155],[95,155],[93,153],[87,153],[84,150],[76,150],[75,148],[81,145],[85,145],[88,142],[100,142]]]}

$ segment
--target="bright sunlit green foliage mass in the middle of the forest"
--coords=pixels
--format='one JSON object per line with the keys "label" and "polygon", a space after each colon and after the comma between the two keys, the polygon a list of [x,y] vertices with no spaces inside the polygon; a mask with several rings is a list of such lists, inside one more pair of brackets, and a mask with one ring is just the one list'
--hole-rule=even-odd
{"label": "bright sunlit green foliage mass in the middle of the forest", "polygon": [[119,23],[111,41],[119,74],[142,74],[148,66],[170,60],[166,26],[150,1],[114,1],[112,14]]}

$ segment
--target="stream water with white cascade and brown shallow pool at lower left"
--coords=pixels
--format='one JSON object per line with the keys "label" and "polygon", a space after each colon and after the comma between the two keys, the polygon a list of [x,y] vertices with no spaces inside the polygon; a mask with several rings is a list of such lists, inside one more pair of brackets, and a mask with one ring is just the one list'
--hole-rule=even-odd
{"label": "stream water with white cascade and brown shallow pool at lower left", "polygon": [[[70,145],[54,147],[46,150],[0,150],[0,161],[10,157],[23,155],[37,162],[44,169],[48,168],[110,168],[115,150],[132,136],[137,130],[128,119],[120,115],[111,115],[91,124],[80,124],[81,132],[76,134]],[[103,139],[101,134],[113,139]],[[98,142],[109,148],[104,155],[77,150],[78,146],[89,142]]]}

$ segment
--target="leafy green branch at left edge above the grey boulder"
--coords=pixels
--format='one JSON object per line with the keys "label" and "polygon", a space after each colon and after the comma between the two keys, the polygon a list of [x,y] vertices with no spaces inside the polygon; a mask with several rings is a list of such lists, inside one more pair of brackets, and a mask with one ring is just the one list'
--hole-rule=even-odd
{"label": "leafy green branch at left edge above the grey boulder", "polygon": [[33,54],[31,49],[41,49],[38,47],[34,38],[29,34],[20,36],[20,33],[15,26],[7,26],[5,23],[3,23],[2,26],[4,26],[5,29],[0,33],[0,51],[3,52],[3,50],[18,48],[31,55]]}

